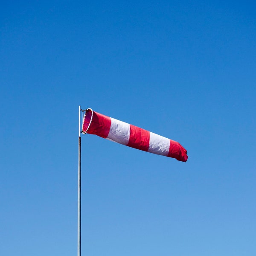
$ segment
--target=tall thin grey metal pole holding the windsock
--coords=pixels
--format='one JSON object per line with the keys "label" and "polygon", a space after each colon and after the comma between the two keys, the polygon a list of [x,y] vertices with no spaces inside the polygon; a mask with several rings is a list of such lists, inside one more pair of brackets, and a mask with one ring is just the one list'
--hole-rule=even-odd
{"label": "tall thin grey metal pole holding the windsock", "polygon": [[77,201],[77,256],[81,256],[81,136],[80,136],[80,113],[79,106],[79,137],[78,137],[78,201]]}

